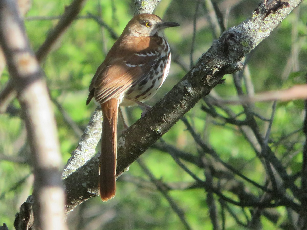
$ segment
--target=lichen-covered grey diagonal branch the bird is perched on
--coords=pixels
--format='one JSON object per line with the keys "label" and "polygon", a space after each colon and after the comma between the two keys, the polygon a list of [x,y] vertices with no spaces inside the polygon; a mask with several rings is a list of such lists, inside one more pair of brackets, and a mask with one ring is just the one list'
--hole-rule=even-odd
{"label": "lichen-covered grey diagonal branch the bird is perched on", "polygon": [[[231,69],[232,66],[235,66],[233,64],[239,62],[264,38],[269,36],[272,30],[300,2],[301,0],[290,0],[289,7],[280,9],[273,15],[269,14],[266,17],[267,10],[264,5],[261,5],[258,13],[253,12],[253,17],[230,28],[218,40],[215,40],[208,52],[198,59],[196,65],[185,77],[144,117],[131,125],[119,137],[117,176],[127,171],[135,159],[150,148],[188,110],[220,83],[225,74],[238,70],[238,68]],[[97,178],[98,161],[96,155],[85,166],[65,179],[68,210],[72,210],[78,203],[97,195]],[[82,191],[74,191],[76,187],[82,187]]]}

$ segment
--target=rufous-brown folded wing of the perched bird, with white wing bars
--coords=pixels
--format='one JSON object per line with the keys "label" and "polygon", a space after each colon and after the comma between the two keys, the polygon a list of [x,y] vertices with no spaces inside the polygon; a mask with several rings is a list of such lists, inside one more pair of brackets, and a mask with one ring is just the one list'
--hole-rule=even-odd
{"label": "rufous-brown folded wing of the perched bird, with white wing bars", "polygon": [[156,43],[152,44],[101,64],[91,82],[87,104],[92,97],[100,104],[120,97],[132,85],[145,79],[159,58],[158,47],[154,45]]}

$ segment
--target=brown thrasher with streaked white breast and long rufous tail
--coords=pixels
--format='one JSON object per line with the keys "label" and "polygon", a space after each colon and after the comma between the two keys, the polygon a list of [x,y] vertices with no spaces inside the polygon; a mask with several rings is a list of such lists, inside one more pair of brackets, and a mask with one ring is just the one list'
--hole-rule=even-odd
{"label": "brown thrasher with streaked white breast and long rufous tail", "polygon": [[163,36],[167,27],[154,14],[135,15],[98,67],[86,101],[94,97],[101,105],[103,122],[99,167],[99,193],[103,201],[115,196],[117,117],[120,105],[145,105],[169,73],[171,54]]}

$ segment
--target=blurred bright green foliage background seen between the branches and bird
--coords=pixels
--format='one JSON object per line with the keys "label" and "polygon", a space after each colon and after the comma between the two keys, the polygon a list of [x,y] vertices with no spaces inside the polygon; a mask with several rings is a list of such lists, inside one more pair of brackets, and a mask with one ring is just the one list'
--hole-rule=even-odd
{"label": "blurred bright green foliage background seen between the branches and bird", "polygon": [[[227,1],[232,6],[229,12],[227,27],[237,25],[251,16],[259,1]],[[225,15],[226,1],[218,1],[222,13]],[[57,16],[64,12],[68,0],[40,1],[34,0],[31,10],[26,15],[25,27],[33,50],[43,43],[49,30],[57,20],[30,20],[35,16]],[[248,68],[255,88],[255,92],[286,89],[295,84],[305,83],[307,67],[306,43],[306,2],[303,2],[278,26],[277,29],[252,52]],[[196,42],[194,44],[194,63],[197,58],[210,47],[214,36],[206,20],[203,5],[198,11]],[[165,21],[176,21],[179,28],[167,29],[165,35],[169,44],[177,55],[189,67],[189,56],[192,42],[193,17],[196,1],[162,0],[155,13]],[[95,0],[87,1],[80,15],[87,13],[99,15],[119,35],[134,13],[133,1]],[[71,119],[83,129],[95,110],[96,105],[91,102],[86,106],[88,85],[99,64],[103,61],[107,51],[115,42],[104,28],[90,18],[80,18],[73,22],[61,41],[49,54],[42,67],[51,96],[57,100]],[[293,54],[293,48],[298,53]],[[297,58],[293,64],[294,58]],[[154,105],[159,98],[168,92],[183,76],[183,70],[175,62],[172,63],[169,77],[156,96],[148,104]],[[5,71],[0,79],[2,88],[9,79]],[[225,83],[215,88],[223,98],[236,95],[231,76],[225,76]],[[245,90],[243,88],[243,90]],[[264,168],[250,144],[233,125],[223,124],[218,118],[213,118],[200,110],[204,102],[199,102],[186,117],[196,129],[197,133],[208,140],[220,158],[252,180],[263,184]],[[17,100],[13,105],[19,109]],[[272,103],[256,103],[255,112],[269,118]],[[242,111],[241,106],[229,106],[235,113]],[[287,172],[294,174],[301,170],[301,151],[304,136],[301,131],[305,114],[303,102],[279,102],[274,117],[270,136],[270,146],[279,159],[287,162]],[[64,121],[63,114],[54,106],[58,135],[63,156],[63,165],[70,153],[76,147],[80,136]],[[223,111],[218,110],[219,113]],[[138,107],[128,108],[130,124],[141,114]],[[244,117],[243,117],[244,118]],[[261,133],[265,135],[267,122],[257,120]],[[293,135],[281,139],[295,132]],[[120,132],[120,131],[119,131]],[[163,136],[165,142],[176,146],[193,155],[197,155],[198,146],[186,131],[183,122],[179,121]],[[290,154],[291,153],[291,154]],[[0,116],[0,154],[25,159],[29,157],[29,147],[26,143],[25,125],[19,114]],[[141,159],[149,167],[157,179],[165,183],[190,183],[192,178],[173,161],[169,154],[150,149]],[[13,229],[14,215],[26,197],[32,194],[33,175],[28,163],[0,161],[0,221],[5,222],[9,229]],[[190,170],[205,179],[203,169],[192,163],[185,163]],[[168,201],[149,182],[137,163],[132,164],[129,172],[123,174],[117,182],[117,194],[114,199],[102,203],[99,197],[90,199],[76,208],[68,216],[70,229],[184,229],[181,221],[170,207]],[[299,186],[299,181],[296,181]],[[247,189],[256,196],[261,191],[246,185]],[[234,194],[226,195],[236,200]],[[204,189],[172,190],[169,195],[183,210],[192,229],[212,228],[208,215],[207,193]],[[245,221],[242,210],[231,206],[241,221]],[[244,208],[249,213],[248,208]],[[285,216],[286,209],[276,209],[281,216]],[[230,214],[225,212],[226,229],[244,229],[239,227]],[[261,219],[264,229],[279,229],[278,224],[272,224],[266,218]],[[282,219],[278,223],[282,223]]]}

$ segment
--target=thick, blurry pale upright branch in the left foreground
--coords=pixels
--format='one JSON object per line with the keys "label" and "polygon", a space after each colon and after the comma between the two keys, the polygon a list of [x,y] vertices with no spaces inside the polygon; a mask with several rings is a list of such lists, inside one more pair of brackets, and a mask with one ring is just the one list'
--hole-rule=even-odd
{"label": "thick, blurry pale upright branch in the left foreground", "polygon": [[[14,1],[0,1],[0,44],[25,119],[31,147],[34,215],[38,229],[67,229],[60,148],[54,113],[41,70]],[[18,217],[17,217],[18,218]],[[24,229],[24,222],[15,227]]]}

